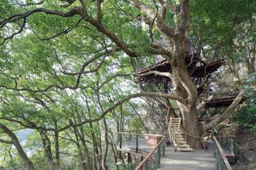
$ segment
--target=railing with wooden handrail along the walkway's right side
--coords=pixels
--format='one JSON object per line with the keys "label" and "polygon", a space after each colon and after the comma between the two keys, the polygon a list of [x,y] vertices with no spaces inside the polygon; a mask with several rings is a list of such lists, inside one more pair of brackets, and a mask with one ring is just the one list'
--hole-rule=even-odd
{"label": "railing with wooden handrail along the walkway's right side", "polygon": [[213,137],[214,141],[214,157],[217,159],[217,170],[232,170],[227,157],[219,144],[216,137]]}

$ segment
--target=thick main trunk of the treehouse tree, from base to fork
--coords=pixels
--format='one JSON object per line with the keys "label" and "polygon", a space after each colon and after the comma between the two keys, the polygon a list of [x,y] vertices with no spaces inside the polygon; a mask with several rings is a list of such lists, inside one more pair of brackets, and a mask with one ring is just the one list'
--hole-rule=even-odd
{"label": "thick main trunk of the treehouse tree, from base to fork", "polygon": [[187,72],[187,66],[185,65],[185,54],[177,49],[177,57],[172,63],[173,77],[172,83],[175,87],[175,94],[185,99],[185,102],[178,102],[179,109],[181,111],[181,117],[183,121],[183,129],[185,131],[185,137],[187,143],[192,148],[202,148],[201,133],[202,128],[198,121],[197,115],[197,86],[193,84],[189,73]]}

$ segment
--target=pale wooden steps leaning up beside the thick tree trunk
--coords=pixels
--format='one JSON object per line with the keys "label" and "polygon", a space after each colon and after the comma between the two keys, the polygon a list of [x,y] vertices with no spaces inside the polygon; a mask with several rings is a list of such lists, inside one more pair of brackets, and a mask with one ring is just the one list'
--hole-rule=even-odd
{"label": "pale wooden steps leaning up beside the thick tree trunk", "polygon": [[173,141],[173,145],[175,145],[175,151],[193,151],[187,145],[187,141],[185,141],[183,132],[181,131],[181,118],[170,118],[169,135]]}

